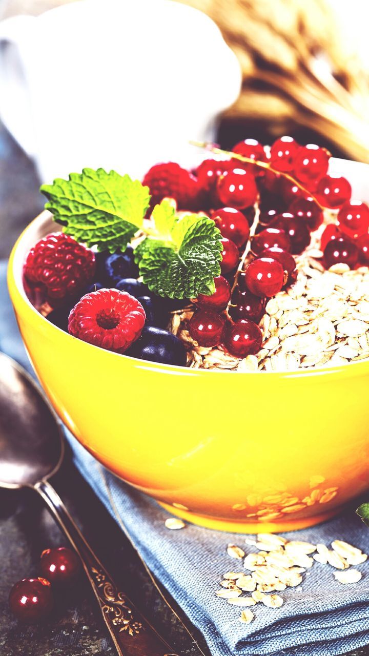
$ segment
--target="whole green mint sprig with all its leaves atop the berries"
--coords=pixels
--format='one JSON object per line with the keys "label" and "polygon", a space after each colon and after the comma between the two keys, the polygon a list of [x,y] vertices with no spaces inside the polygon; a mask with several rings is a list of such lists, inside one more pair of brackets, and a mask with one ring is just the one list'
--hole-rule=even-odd
{"label": "whole green mint sprig with all its leaves atop the berries", "polygon": [[221,272],[221,233],[207,216],[178,216],[168,200],[156,205],[144,225],[148,187],[116,171],[83,169],[68,180],[43,184],[46,209],[63,232],[98,251],[124,252],[137,232],[146,236],[135,249],[140,275],[150,291],[169,298],[195,298],[215,291]]}

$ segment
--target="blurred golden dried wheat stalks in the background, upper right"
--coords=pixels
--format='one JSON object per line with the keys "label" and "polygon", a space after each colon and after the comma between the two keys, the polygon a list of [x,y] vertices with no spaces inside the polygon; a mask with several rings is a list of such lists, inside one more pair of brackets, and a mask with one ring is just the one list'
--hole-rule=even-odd
{"label": "blurred golden dried wheat stalks in the background, upper right", "polygon": [[293,121],[369,161],[369,77],[326,0],[182,0],[206,12],[242,66],[231,117]]}

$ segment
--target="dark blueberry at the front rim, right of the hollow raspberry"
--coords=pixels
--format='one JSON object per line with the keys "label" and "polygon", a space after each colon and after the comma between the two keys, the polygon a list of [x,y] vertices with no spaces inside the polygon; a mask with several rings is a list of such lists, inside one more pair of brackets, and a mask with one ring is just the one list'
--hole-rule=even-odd
{"label": "dark blueberry at the front rim, right of the hollow raspberry", "polygon": [[141,337],[125,352],[127,356],[160,362],[165,365],[186,365],[186,349],[181,340],[162,328],[145,326]]}

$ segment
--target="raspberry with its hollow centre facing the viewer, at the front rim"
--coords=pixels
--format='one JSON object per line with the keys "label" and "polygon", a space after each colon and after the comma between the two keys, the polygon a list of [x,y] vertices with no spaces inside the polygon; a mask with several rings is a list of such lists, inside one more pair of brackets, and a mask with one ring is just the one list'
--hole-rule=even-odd
{"label": "raspberry with its hollow centre facing the viewer, at the front rim", "polygon": [[141,303],[126,291],[98,289],[74,306],[68,331],[84,342],[123,353],[140,337],[145,319]]}

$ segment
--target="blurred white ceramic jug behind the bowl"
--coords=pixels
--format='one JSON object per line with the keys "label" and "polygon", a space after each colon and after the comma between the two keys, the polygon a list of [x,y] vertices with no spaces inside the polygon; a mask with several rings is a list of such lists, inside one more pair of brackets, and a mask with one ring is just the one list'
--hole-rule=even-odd
{"label": "blurred white ceramic jug behind the bowl", "polygon": [[0,23],[0,117],[50,181],[198,159],[240,91],[217,26],[172,0],[80,0]]}

